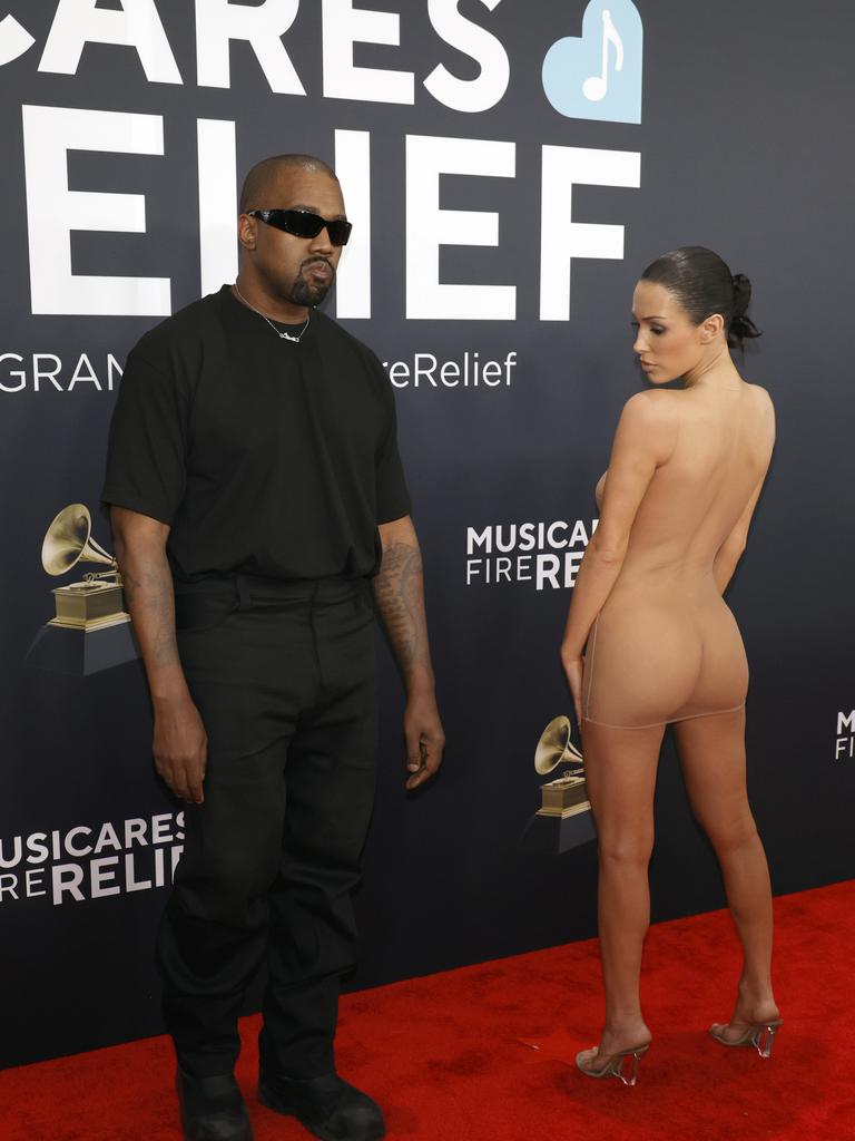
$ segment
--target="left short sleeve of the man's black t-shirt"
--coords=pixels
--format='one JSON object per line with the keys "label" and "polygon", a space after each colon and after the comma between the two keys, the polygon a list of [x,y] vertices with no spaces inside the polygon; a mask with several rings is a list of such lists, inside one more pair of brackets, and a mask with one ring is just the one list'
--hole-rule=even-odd
{"label": "left short sleeve of the man's black t-shirt", "polygon": [[188,415],[179,378],[132,351],[109,429],[105,503],[172,524],[185,492]]}

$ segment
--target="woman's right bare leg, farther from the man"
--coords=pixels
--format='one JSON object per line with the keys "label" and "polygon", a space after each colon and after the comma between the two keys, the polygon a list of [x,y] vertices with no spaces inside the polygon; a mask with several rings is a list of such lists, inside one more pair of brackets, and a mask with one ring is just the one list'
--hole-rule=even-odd
{"label": "woman's right bare leg, farther from the man", "polygon": [[746,790],[746,713],[717,713],[675,726],[692,809],[710,839],[727,904],[742,942],[743,965],[726,1036],[777,1017],[772,993],[772,890],[766,853]]}

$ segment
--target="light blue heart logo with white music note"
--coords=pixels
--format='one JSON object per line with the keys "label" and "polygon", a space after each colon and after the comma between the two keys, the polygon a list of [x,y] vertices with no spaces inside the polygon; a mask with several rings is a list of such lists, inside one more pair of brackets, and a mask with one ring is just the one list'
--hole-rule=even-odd
{"label": "light blue heart logo with white music note", "polygon": [[568,119],[640,123],[644,30],[632,0],[591,0],[581,38],[567,35],[546,52],[546,98]]}

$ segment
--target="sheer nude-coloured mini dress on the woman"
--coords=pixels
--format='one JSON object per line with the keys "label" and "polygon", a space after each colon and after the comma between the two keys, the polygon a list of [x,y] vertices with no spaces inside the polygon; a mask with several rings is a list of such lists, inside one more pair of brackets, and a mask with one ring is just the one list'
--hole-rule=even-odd
{"label": "sheer nude-coloured mini dress on the woman", "polygon": [[768,468],[772,402],[744,382],[699,385],[674,397],[674,451],[644,493],[620,574],[588,637],[583,717],[597,725],[652,728],[746,701],[746,652],[714,563],[750,516]]}

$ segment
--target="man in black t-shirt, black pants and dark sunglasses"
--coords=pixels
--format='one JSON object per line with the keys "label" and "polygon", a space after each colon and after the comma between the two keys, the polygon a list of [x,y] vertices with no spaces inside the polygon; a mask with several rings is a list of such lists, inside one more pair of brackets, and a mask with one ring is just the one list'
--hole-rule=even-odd
{"label": "man in black t-shirt, black pants and dark sunglasses", "polygon": [[154,706],[188,802],[158,936],[188,1141],[246,1141],[237,1015],[267,956],[259,1095],[317,1136],[384,1134],[335,1074],[350,893],[376,751],[374,600],[407,687],[407,787],[443,736],[422,564],[376,357],[316,309],[350,225],[325,163],[280,155],[241,200],[237,282],[128,358],[103,492]]}

